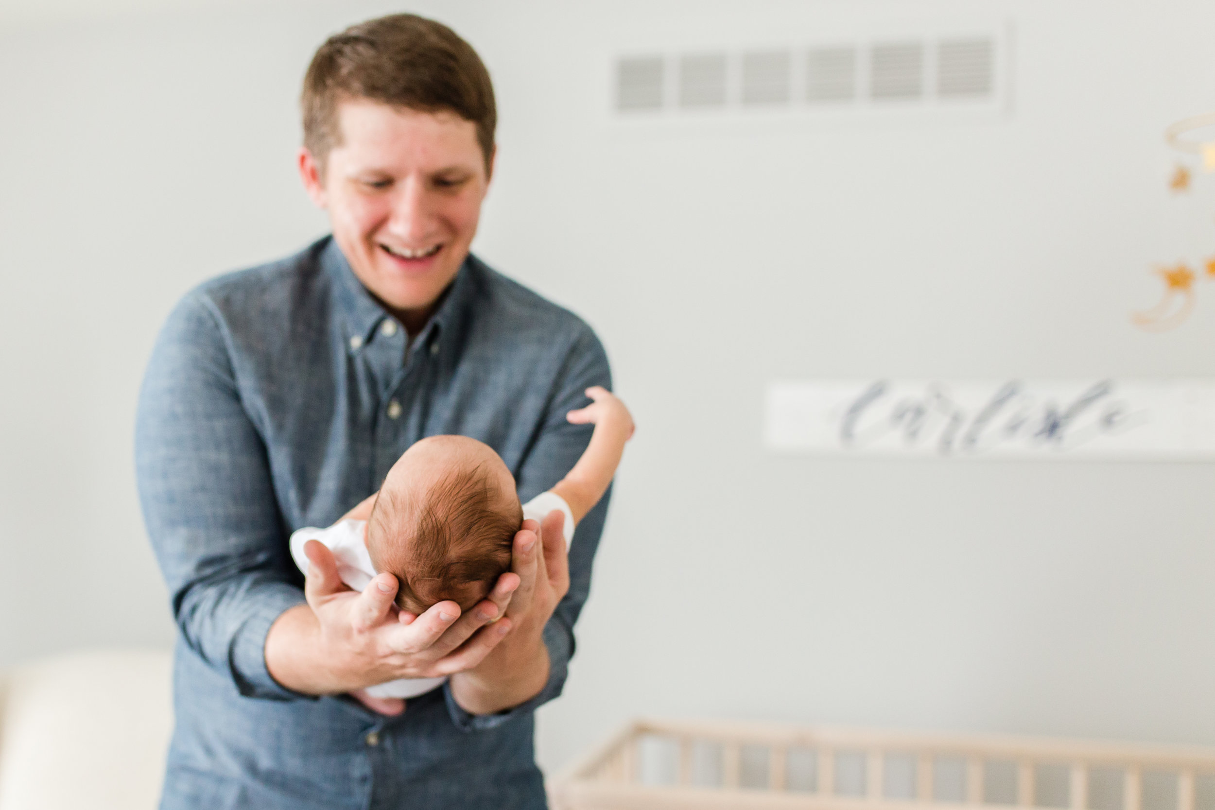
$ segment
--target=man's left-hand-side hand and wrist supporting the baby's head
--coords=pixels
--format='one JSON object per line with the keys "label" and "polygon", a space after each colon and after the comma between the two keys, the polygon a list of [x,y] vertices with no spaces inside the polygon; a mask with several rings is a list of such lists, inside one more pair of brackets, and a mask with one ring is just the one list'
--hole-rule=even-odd
{"label": "man's left-hand-side hand and wrist supporting the baby's head", "polygon": [[[488,599],[464,616],[456,602],[443,601],[416,617],[396,610],[391,574],[377,576],[360,594],[343,584],[322,543],[310,540],[304,553],[311,563],[307,605],[279,616],[266,636],[266,668],[287,689],[332,695],[397,678],[451,675],[481,663],[514,624],[503,617],[482,630],[510,604],[520,584],[515,573],[503,574]],[[403,706],[372,708],[399,713]]]}

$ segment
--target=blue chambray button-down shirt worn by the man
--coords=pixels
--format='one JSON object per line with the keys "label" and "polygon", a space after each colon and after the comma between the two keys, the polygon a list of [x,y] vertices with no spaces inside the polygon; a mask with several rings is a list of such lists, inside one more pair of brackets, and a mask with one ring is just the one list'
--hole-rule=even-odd
{"label": "blue chambray button-down shirt worn by the man", "polygon": [[187,294],[148,363],[135,453],[180,629],[162,806],[546,806],[532,712],[565,681],[606,497],[570,548],[548,684],[515,709],[473,716],[443,686],[383,718],[283,689],[264,645],[304,601],[292,531],[333,522],[439,434],[495,448],[527,500],[589,442],[565,413],[610,383],[586,323],[474,256],[412,344],[332,238]]}

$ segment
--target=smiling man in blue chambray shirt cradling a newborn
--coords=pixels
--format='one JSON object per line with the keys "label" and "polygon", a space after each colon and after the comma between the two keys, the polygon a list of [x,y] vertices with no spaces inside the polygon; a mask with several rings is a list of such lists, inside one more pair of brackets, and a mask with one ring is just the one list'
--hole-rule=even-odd
{"label": "smiling man in blue chambray shirt cradling a newborn", "polygon": [[[428,436],[505,463],[520,499],[575,465],[566,413],[610,387],[570,312],[469,245],[493,171],[493,90],[450,29],[355,26],[304,83],[299,170],[333,234],[213,279],[170,315],[140,398],[148,533],[180,628],[163,805],[543,808],[532,713],[560,693],[608,498],[566,556],[563,516],[526,521],[512,571],[468,611],[417,618],[397,580],[361,593],[287,538],[373,494]],[[447,681],[406,706],[363,690]]]}

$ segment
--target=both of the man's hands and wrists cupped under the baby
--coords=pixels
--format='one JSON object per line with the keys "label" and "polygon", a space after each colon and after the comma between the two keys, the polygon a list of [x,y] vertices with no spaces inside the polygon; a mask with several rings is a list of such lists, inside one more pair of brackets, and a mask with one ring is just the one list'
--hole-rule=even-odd
{"label": "both of the man's hands and wrists cupped under the baby", "polygon": [[304,546],[311,563],[304,585],[307,605],[290,608],[271,625],[266,668],[287,689],[351,692],[382,714],[400,714],[405,702],[371,698],[362,690],[397,678],[451,675],[452,695],[470,714],[519,706],[548,682],[544,625],[570,589],[564,520],[553,511],[543,528],[524,521],[515,534],[512,571],[463,616],[452,601],[422,616],[397,611],[397,582],[388,573],[361,594],[350,590],[329,549],[310,540]]}

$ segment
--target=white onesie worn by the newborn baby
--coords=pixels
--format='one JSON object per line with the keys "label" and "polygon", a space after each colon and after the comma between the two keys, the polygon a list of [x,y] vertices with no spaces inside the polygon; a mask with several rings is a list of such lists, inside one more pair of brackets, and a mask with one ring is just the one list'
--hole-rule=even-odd
{"label": "white onesie worn by the newborn baby", "polygon": [[[524,520],[542,521],[550,511],[559,509],[565,515],[565,548],[570,548],[573,540],[573,512],[565,498],[555,492],[542,492],[524,504]],[[338,563],[338,576],[355,590],[363,590],[375,577],[375,566],[372,565],[372,556],[367,553],[366,540],[367,521],[344,520],[334,523],[329,528],[305,528],[292,532],[290,549],[292,559],[299,570],[307,573],[307,557],[304,555],[304,544],[309,540],[321,540],[330,551]],[[400,678],[386,684],[368,686],[367,693],[372,697],[417,697],[442,684],[446,678]]]}

